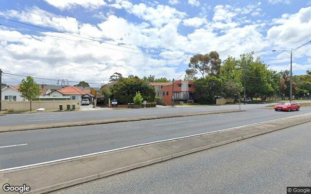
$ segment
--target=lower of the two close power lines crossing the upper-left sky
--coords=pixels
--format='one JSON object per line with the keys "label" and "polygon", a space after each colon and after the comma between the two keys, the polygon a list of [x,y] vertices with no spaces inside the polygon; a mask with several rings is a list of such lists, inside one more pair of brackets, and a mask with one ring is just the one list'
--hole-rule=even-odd
{"label": "lower of the two close power lines crossing the upper-left sky", "polygon": [[[1,18],[1,17],[0,17],[0,18]],[[100,46],[100,45],[94,45],[94,44],[91,44],[91,43],[86,43],[86,42],[82,42],[82,41],[78,41],[78,40],[72,40],[72,39],[69,39],[69,38],[54,36],[54,35],[51,35],[51,34],[42,33],[42,32],[37,32],[37,31],[32,31],[32,30],[29,30],[29,29],[26,29],[26,28],[19,28],[19,27],[7,25],[7,24],[1,24],[1,23],[0,23],[0,25],[2,25],[2,26],[7,26],[7,27],[10,27],[10,28],[20,29],[20,30],[24,30],[24,31],[34,32],[34,33],[38,33],[38,34],[42,34],[42,35],[46,35],[46,36],[51,36],[51,37],[54,37],[54,38],[69,40],[69,41],[78,42],[78,43],[83,43],[83,44],[87,44],[87,45],[91,45],[91,46],[96,46],[96,47],[101,47],[101,48],[104,48],[104,49],[112,49],[112,50],[117,50],[117,51],[121,51],[121,52],[127,52],[127,53],[131,53],[131,54],[137,54],[137,55],[143,55],[143,56],[149,56],[149,57],[158,57],[158,56],[155,56],[155,55],[148,55],[148,54],[142,54],[142,53],[137,53],[137,52],[130,52],[130,51],[126,51],[126,50],[119,50],[119,49],[113,49],[113,48],[109,48],[109,47],[103,47],[103,46]],[[57,32],[57,31],[56,31],[56,32]],[[61,32],[60,32],[60,33],[61,33]],[[65,33],[65,34],[67,34],[67,33]],[[137,49],[137,50],[139,50],[139,49]],[[170,56],[170,57],[175,57],[175,56],[173,56],[173,55],[166,55],[166,54],[163,54],[163,55],[165,55],[165,56]],[[181,58],[179,58],[179,59],[181,59]],[[179,59],[172,59],[171,61],[177,61],[177,60],[179,60]]]}

